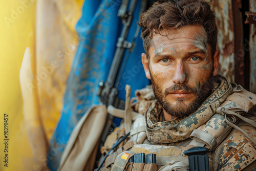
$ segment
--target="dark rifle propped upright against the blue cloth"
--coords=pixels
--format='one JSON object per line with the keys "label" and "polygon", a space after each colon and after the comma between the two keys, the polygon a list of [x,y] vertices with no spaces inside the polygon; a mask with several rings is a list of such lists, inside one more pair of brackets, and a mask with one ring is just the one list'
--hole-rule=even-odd
{"label": "dark rifle propped upright against the blue cloth", "polygon": [[[129,32],[129,28],[132,24],[133,14],[137,5],[137,0],[132,0],[130,3],[129,10],[127,9],[127,5],[129,0],[123,0],[119,10],[118,16],[122,19],[123,28],[121,31],[121,35],[118,38],[116,44],[116,51],[114,55],[114,59],[110,68],[110,72],[106,82],[100,81],[99,82],[99,91],[97,95],[100,97],[100,100],[106,106],[113,105],[115,108],[124,109],[125,102],[117,97],[118,90],[114,86],[115,79],[117,76],[117,72],[120,66],[120,62],[123,57],[123,53],[125,49],[132,48],[132,43],[126,40],[127,34]],[[106,137],[111,132],[111,126],[113,125],[113,116],[108,114],[108,118],[106,120],[104,130],[101,135],[99,149],[103,146]]]}

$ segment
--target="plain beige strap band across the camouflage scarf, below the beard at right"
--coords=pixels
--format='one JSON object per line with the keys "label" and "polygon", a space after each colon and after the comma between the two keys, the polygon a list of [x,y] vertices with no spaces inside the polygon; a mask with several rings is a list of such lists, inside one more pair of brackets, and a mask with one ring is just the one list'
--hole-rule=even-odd
{"label": "plain beige strap band across the camouflage scarf, below the beard at right", "polygon": [[217,145],[216,139],[212,135],[201,130],[195,129],[189,137],[199,142],[203,142],[204,144],[209,146],[210,149],[214,148]]}

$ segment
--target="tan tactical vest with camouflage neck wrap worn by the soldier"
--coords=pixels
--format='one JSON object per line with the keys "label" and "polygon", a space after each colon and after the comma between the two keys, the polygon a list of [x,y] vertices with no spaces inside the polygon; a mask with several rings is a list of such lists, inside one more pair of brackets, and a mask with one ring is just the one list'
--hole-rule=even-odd
{"label": "tan tactical vest with camouflage neck wrap worn by the soldier", "polygon": [[[101,170],[153,170],[150,169],[151,165],[135,165],[129,162],[129,159],[138,153],[156,154],[157,169],[154,165],[154,170],[188,170],[188,159],[184,155],[187,149],[205,146],[210,152],[216,153],[216,148],[227,138],[232,128],[241,131],[256,144],[238,126],[238,123],[246,123],[256,127],[255,118],[251,120],[244,117],[256,104],[256,95],[244,90],[240,85],[229,83],[225,77],[217,78],[218,88],[195,113],[184,119],[165,122],[156,122],[154,114],[159,113],[161,107],[157,101],[152,102],[152,99],[151,107],[144,115],[131,111],[131,89],[126,87],[125,110],[108,106],[108,112],[123,118],[123,123],[106,139],[101,153],[108,153],[113,143],[126,133],[130,132],[130,136],[119,145],[117,151],[106,158]],[[179,142],[183,144],[177,146]],[[251,150],[255,151],[255,148],[256,146]],[[217,170],[218,160],[218,153],[209,155],[210,170]]]}

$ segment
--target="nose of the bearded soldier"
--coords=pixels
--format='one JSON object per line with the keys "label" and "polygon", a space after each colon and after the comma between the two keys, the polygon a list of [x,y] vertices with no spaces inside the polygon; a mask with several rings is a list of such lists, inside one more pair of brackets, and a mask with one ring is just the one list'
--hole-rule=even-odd
{"label": "nose of the bearded soldier", "polygon": [[185,71],[185,66],[182,62],[178,62],[176,66],[176,71],[174,73],[173,82],[175,84],[186,84],[187,74]]}

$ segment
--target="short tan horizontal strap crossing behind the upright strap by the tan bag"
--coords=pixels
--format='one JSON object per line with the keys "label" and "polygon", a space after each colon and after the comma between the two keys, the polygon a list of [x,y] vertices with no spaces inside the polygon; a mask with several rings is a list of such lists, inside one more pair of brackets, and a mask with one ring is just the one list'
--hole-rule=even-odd
{"label": "short tan horizontal strap crossing behind the upright strap by the tan bag", "polygon": [[[124,110],[121,109],[117,109],[115,108],[113,105],[108,105],[108,109],[106,109],[108,111],[109,114],[111,114],[112,116],[115,116],[117,118],[124,118]],[[134,121],[135,119],[137,119],[138,117],[143,117],[143,115],[131,111],[132,114],[132,120]]]}

